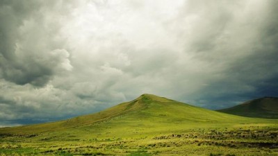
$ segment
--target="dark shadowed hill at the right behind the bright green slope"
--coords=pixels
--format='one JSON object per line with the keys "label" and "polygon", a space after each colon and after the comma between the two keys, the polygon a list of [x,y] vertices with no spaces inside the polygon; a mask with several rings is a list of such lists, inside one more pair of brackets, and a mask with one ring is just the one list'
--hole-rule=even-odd
{"label": "dark shadowed hill at the right behind the bright green slope", "polygon": [[258,98],[234,107],[218,110],[218,112],[256,118],[278,119],[278,98]]}

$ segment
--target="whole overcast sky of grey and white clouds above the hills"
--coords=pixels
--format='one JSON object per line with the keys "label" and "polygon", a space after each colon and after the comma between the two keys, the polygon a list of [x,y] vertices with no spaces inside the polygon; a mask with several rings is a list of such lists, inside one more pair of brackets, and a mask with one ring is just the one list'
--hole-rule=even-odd
{"label": "whole overcast sky of grey and white clouds above the hills", "polygon": [[0,127],[145,93],[212,110],[278,96],[278,1],[0,1]]}

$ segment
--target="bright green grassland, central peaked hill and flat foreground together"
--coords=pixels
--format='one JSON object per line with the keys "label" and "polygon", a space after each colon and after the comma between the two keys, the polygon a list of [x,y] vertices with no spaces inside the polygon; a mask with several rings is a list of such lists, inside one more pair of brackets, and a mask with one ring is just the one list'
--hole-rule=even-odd
{"label": "bright green grassland, central peaked hill and flat foreground together", "polygon": [[143,94],[97,114],[0,129],[0,155],[278,155],[278,120]]}

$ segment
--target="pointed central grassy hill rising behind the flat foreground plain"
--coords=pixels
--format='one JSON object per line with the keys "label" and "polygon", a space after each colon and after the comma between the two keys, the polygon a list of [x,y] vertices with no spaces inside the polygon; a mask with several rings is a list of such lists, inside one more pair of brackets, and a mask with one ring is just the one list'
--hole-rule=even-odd
{"label": "pointed central grassy hill rising behind the flat foreground plain", "polygon": [[65,121],[42,123],[36,125],[24,125],[13,128],[0,128],[1,133],[28,133],[28,132],[53,132],[69,128],[90,127],[95,130],[99,126],[117,128],[171,128],[183,126],[195,126],[213,123],[237,123],[247,119],[224,114],[213,110],[206,110],[186,103],[173,101],[168,98],[152,94],[142,94],[133,101],[115,105],[107,110],[78,116]]}

